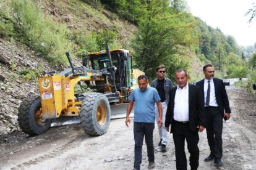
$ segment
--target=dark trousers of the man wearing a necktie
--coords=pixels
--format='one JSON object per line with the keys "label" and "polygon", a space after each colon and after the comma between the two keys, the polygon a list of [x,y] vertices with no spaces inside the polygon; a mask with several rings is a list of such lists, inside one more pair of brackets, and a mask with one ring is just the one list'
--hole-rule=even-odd
{"label": "dark trousers of the man wearing a necktie", "polygon": [[223,116],[218,107],[206,108],[207,119],[207,139],[210,147],[211,155],[216,159],[222,158],[222,129],[223,129]]}

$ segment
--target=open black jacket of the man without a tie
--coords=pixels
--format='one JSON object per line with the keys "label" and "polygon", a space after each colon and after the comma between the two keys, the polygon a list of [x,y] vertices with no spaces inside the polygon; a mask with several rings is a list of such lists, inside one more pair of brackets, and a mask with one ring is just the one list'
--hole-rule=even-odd
{"label": "open black jacket of the man without a tie", "polygon": [[[166,111],[165,127],[169,127],[171,124],[171,132],[173,126],[174,115],[174,99],[176,95],[177,87],[174,87],[169,92],[169,103]],[[189,127],[192,131],[198,131],[197,126],[205,127],[205,107],[203,105],[203,95],[200,88],[189,84]]]}

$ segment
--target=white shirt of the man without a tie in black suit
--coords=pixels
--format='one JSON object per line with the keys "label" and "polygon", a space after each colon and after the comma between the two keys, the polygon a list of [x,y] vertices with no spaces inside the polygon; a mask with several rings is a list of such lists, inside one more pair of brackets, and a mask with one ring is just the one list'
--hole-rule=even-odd
{"label": "white shirt of the man without a tie in black suit", "polygon": [[176,121],[189,121],[189,83],[183,89],[177,86],[173,118]]}

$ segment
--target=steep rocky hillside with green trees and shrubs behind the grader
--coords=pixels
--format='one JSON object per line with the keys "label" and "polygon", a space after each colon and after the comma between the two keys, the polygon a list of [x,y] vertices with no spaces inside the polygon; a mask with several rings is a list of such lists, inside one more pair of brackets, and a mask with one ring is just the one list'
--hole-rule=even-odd
{"label": "steep rocky hillside with green trees and shrubs behind the grader", "polygon": [[81,65],[80,57],[106,44],[132,51],[150,81],[164,64],[173,82],[179,68],[194,82],[205,63],[219,78],[248,77],[242,86],[250,89],[256,81],[255,47],[241,48],[192,16],[186,1],[0,0],[0,134],[19,129],[19,104],[38,94],[41,72],[69,67],[67,51]]}

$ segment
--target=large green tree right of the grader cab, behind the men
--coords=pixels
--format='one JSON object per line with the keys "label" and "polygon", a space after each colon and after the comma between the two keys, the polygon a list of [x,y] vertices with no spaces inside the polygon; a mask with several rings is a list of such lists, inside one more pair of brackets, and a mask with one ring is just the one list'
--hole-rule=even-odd
{"label": "large green tree right of the grader cab, behind the men", "polygon": [[[194,42],[192,36],[195,22],[190,15],[177,14],[169,1],[147,1],[147,13],[139,22],[139,31],[134,41],[135,62],[150,79],[155,77],[155,68],[163,64],[173,73],[178,68],[187,68],[182,48]],[[192,20],[192,19],[191,19]]]}

